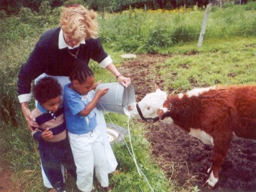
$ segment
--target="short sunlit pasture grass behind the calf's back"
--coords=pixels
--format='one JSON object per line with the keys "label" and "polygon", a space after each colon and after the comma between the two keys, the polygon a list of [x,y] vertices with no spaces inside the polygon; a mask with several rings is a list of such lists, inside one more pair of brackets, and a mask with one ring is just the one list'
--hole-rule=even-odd
{"label": "short sunlit pasture grass behind the calf's back", "polygon": [[[161,79],[166,79],[166,90],[176,92],[213,84],[255,83],[255,38],[209,40],[203,48],[188,44],[176,46],[172,58],[161,67]],[[176,53],[175,53],[176,52]]]}

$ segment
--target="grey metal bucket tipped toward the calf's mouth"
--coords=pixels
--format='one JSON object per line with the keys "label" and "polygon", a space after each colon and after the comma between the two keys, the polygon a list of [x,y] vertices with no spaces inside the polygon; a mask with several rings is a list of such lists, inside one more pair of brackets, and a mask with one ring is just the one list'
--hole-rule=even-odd
{"label": "grey metal bucket tipped toward the calf's mouth", "polygon": [[129,115],[128,106],[135,102],[135,92],[132,83],[128,88],[125,88],[118,82],[101,83],[97,86],[95,92],[97,92],[99,88],[109,88],[109,90],[100,98],[96,106],[97,109],[100,111],[106,110],[113,113]]}

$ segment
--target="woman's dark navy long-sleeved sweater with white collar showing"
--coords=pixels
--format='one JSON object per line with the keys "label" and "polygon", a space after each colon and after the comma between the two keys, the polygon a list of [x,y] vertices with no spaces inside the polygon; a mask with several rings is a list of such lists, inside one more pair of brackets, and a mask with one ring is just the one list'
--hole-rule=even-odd
{"label": "woman's dark navy long-sleeved sweater with white collar showing", "polygon": [[[18,79],[19,95],[30,93],[31,82],[40,76],[69,76],[74,68],[76,58],[68,53],[68,47],[59,49],[60,28],[46,31],[38,40],[28,61],[22,65]],[[100,63],[108,54],[102,48],[99,38],[85,40],[86,44],[79,45],[77,59],[84,60],[87,65],[90,59]],[[74,50],[77,51],[78,48]]]}

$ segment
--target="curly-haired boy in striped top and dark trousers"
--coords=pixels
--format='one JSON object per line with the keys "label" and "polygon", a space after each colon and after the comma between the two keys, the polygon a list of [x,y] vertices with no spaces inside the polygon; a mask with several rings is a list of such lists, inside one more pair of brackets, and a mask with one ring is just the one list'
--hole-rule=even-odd
{"label": "curly-haired boy in striped top and dark trousers", "polygon": [[76,165],[67,138],[67,127],[61,104],[61,85],[53,77],[40,79],[33,88],[38,101],[32,115],[38,128],[33,138],[38,141],[42,168],[53,188],[65,191],[61,164],[76,179]]}

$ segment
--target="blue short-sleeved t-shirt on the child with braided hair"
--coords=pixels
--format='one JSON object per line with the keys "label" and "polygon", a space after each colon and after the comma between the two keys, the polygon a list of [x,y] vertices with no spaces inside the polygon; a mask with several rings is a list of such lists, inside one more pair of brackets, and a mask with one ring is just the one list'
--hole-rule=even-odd
{"label": "blue short-sleeved t-shirt on the child with braided hair", "polygon": [[97,126],[96,113],[92,110],[88,116],[81,116],[82,111],[92,101],[90,94],[80,95],[69,88],[70,83],[64,87],[64,114],[67,129],[73,134],[84,134],[92,131]]}

